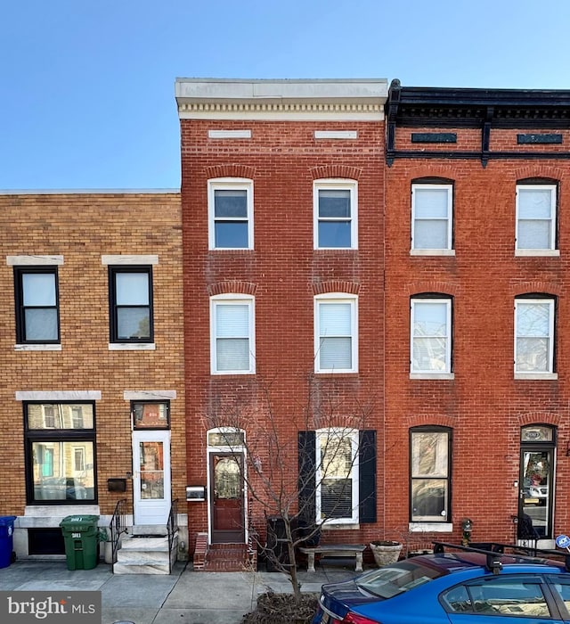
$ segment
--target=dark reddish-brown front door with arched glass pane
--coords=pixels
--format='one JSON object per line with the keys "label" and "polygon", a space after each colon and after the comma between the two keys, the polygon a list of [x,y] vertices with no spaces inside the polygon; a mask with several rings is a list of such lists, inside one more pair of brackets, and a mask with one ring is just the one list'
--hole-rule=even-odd
{"label": "dark reddish-brown front door with arched glass pane", "polygon": [[212,543],[245,542],[243,456],[213,453],[210,456]]}

